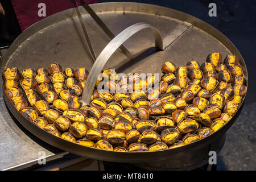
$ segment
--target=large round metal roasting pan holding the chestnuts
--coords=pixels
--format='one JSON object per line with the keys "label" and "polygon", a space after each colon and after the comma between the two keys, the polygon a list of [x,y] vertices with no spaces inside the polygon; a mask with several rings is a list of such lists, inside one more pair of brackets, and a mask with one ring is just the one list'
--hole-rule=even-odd
{"label": "large round metal roasting pan holding the chestnuts", "polygon": [[[177,66],[192,59],[203,63],[210,52],[217,51],[223,57],[229,54],[238,56],[246,80],[248,78],[245,62],[237,48],[220,31],[200,19],[166,7],[142,3],[98,3],[90,7],[115,35],[131,24],[146,22],[160,31],[164,45],[168,46],[164,51],[159,51],[154,47],[151,30],[143,30],[125,42],[133,59],[127,59],[118,50],[110,57],[105,68],[115,68],[117,72],[123,73],[160,73],[166,60],[173,61]],[[88,13],[81,7],[80,10],[92,46],[96,55],[99,55],[110,40]],[[63,68],[85,67],[90,70],[93,61],[84,44],[81,30],[75,9],[51,15],[32,25],[14,41],[6,53],[2,68],[47,68],[57,61]],[[28,131],[52,146],[93,159],[144,163],[151,166],[149,169],[155,169],[154,166],[160,169],[193,169],[203,166],[208,161],[210,150],[218,152],[221,149],[226,131],[241,111],[240,107],[233,118],[216,133],[187,146],[156,152],[113,152],[80,146],[43,131],[23,118],[11,105],[5,92],[3,95],[15,118]]]}

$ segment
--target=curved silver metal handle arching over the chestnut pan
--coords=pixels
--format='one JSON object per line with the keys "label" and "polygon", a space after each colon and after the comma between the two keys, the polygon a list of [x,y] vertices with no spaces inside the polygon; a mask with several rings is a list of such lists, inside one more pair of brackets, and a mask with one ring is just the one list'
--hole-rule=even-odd
{"label": "curved silver metal handle arching over the chestnut pan", "polygon": [[117,36],[115,36],[114,39],[112,39],[109,44],[101,51],[100,55],[96,59],[95,63],[93,64],[92,69],[90,69],[90,73],[87,77],[84,91],[82,92],[82,104],[88,105],[90,103],[90,97],[92,96],[92,92],[94,89],[94,86],[97,81],[98,75],[101,73],[101,70],[103,69],[106,62],[109,60],[109,58],[112,56],[112,54],[121,46],[127,39],[129,39],[131,36],[136,34],[137,32],[144,30],[146,28],[151,28],[151,30],[154,32],[155,37],[155,47],[158,47],[159,49],[163,50],[163,39],[160,34],[160,32],[152,27],[148,23],[135,23],[132,26],[126,28],[122,32],[120,32]]}

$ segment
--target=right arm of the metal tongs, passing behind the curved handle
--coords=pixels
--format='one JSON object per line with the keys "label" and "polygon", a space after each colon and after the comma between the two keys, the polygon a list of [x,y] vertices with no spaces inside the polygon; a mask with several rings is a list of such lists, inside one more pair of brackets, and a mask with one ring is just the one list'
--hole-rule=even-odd
{"label": "right arm of the metal tongs, passing behind the curved handle", "polygon": [[[112,33],[112,31],[109,30],[109,28],[105,25],[104,22],[98,17],[98,15],[93,11],[93,9],[90,8],[90,6],[82,0],[82,7],[92,16],[92,18],[95,20],[96,23],[104,30],[104,32],[109,36],[110,39],[114,39],[115,35]],[[120,49],[126,54],[129,59],[131,59],[131,53],[130,51],[123,45],[120,46]]]}

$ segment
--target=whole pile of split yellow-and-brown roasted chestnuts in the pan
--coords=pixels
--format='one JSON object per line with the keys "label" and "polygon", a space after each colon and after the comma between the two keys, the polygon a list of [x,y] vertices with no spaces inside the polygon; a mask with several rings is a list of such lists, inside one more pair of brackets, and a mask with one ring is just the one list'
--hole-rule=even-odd
{"label": "whole pile of split yellow-and-brown roasted chestnuts in the pan", "polygon": [[[101,150],[135,152],[181,147],[219,130],[236,113],[246,94],[246,80],[238,57],[210,53],[206,62],[192,60],[176,67],[162,65],[158,89],[144,92],[146,81],[139,74],[119,78],[112,69],[98,76],[90,105],[81,95],[89,72],[62,69],[19,71],[6,68],[3,87],[20,113],[41,129],[69,142]],[[106,88],[97,86],[107,79]],[[133,90],[111,93],[108,89]]]}

